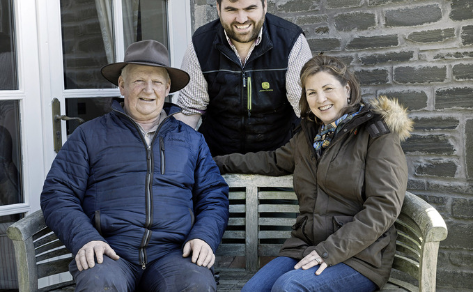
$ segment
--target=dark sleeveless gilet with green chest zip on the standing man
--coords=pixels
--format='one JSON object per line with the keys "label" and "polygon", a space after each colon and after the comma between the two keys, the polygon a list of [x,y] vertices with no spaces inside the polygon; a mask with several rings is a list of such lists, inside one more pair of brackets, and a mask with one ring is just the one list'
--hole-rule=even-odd
{"label": "dark sleeveless gilet with green chest zip on the standing man", "polygon": [[242,68],[219,20],[201,26],[192,43],[210,102],[199,128],[213,156],[274,150],[300,122],[286,96],[290,50],[302,29],[266,14],[261,43]]}

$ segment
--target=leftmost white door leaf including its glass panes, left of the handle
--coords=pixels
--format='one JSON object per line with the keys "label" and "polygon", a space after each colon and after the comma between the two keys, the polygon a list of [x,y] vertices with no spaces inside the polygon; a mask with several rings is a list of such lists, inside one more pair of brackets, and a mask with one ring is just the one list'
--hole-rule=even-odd
{"label": "leftmost white door leaf including its glass panes, left of the handle", "polygon": [[0,0],[0,291],[17,289],[6,229],[40,208],[31,194],[44,180],[35,6],[33,0]]}

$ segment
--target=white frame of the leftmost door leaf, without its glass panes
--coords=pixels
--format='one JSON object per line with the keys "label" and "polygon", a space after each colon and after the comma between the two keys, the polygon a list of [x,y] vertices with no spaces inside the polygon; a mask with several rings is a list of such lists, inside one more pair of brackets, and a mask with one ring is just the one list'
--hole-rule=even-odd
{"label": "white frame of the leftmost door leaf, without its glass panes", "polygon": [[15,0],[13,6],[19,87],[16,91],[0,91],[0,100],[20,101],[24,203],[0,206],[0,216],[38,210],[39,195],[36,194],[40,192],[44,182],[45,162],[42,157],[44,118],[40,111],[39,60],[34,49],[38,47],[36,3],[35,0]]}

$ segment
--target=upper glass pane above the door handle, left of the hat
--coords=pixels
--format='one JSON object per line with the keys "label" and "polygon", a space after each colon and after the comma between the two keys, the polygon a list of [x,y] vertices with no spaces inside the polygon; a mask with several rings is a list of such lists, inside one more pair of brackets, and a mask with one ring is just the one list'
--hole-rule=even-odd
{"label": "upper glass pane above the door handle, left of the hat", "polygon": [[115,61],[111,0],[61,0],[65,89],[115,86],[100,68]]}

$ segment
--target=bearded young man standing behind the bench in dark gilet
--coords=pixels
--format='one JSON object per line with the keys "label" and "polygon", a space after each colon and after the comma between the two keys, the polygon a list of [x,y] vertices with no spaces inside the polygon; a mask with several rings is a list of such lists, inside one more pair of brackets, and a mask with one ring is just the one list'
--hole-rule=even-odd
{"label": "bearded young man standing behind the bench in dark gilet", "polygon": [[267,13],[266,0],[217,0],[218,20],[196,30],[182,69],[176,118],[199,127],[212,155],[274,150],[299,123],[302,29]]}

